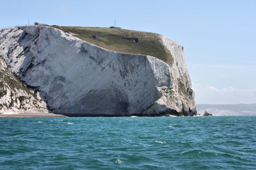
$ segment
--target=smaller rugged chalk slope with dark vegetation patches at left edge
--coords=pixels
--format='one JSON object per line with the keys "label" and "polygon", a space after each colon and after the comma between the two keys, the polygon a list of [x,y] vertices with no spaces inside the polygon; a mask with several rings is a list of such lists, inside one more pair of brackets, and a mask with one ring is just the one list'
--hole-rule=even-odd
{"label": "smaller rugged chalk slope with dark vegetation patches at left edge", "polygon": [[47,112],[46,103],[20,82],[0,58],[0,113]]}

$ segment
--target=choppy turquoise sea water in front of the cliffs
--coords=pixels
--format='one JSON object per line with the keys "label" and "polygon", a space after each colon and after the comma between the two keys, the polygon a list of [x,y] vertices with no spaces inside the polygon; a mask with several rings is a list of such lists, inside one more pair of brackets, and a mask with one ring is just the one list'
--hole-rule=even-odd
{"label": "choppy turquoise sea water in front of the cliffs", "polygon": [[256,117],[0,118],[0,170],[256,170]]}

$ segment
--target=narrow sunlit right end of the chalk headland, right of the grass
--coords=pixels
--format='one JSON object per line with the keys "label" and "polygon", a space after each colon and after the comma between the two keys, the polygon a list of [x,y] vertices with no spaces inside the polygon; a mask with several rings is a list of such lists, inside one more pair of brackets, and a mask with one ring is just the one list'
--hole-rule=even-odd
{"label": "narrow sunlit right end of the chalk headland, right of the grass", "polygon": [[[188,111],[189,113],[195,113],[195,93],[191,88],[192,84],[186,66],[184,47],[164,36],[161,36],[161,39],[162,44],[170,51],[173,57],[170,67],[173,95],[163,94],[159,101],[167,103],[170,108],[177,112]],[[165,90],[163,89],[164,92]],[[171,102],[168,102],[168,99],[171,99]]]}

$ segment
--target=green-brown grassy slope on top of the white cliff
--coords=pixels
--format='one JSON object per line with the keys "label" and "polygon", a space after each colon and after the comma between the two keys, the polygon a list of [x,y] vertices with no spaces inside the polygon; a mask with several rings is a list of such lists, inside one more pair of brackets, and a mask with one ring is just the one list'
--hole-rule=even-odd
{"label": "green-brown grassy slope on top of the white cliff", "polygon": [[[168,64],[172,62],[171,53],[160,42],[159,34],[100,27],[52,27],[68,31],[73,36],[111,51],[151,55]],[[94,38],[95,35],[98,38]],[[139,42],[118,37],[136,37],[139,38]]]}

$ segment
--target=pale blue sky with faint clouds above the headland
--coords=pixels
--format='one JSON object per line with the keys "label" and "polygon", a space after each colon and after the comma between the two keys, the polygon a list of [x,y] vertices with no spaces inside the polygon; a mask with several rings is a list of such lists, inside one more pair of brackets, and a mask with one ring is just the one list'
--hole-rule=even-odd
{"label": "pale blue sky with faint clouds above the headland", "polygon": [[0,28],[114,25],[184,46],[197,104],[256,103],[256,0],[1,0]]}

